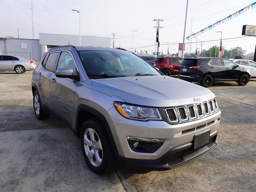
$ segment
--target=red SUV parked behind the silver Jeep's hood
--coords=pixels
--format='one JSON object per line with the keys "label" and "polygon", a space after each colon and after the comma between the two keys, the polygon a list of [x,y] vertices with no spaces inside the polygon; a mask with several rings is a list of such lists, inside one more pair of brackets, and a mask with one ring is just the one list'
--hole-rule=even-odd
{"label": "red SUV parked behind the silver Jeep's hood", "polygon": [[180,63],[184,59],[181,57],[159,57],[153,62],[153,65],[166,76],[178,75]]}

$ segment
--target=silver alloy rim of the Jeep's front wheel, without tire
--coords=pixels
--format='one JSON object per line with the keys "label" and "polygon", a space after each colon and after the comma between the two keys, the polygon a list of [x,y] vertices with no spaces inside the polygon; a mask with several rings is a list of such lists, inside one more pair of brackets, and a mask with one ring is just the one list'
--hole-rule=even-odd
{"label": "silver alloy rim of the Jeep's front wheel, without tire", "polygon": [[84,150],[91,164],[99,167],[102,163],[103,150],[100,138],[92,128],[84,132]]}

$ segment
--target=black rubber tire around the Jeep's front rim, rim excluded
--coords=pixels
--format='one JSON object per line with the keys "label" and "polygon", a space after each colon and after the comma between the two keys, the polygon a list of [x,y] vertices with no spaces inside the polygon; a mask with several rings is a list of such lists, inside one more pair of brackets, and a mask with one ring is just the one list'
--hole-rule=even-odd
{"label": "black rubber tire around the Jeep's front rim, rim excluded", "polygon": [[[100,148],[95,149],[93,147],[89,147],[89,145],[87,146],[86,144],[84,144],[84,137],[86,137],[86,134],[84,135],[84,133],[85,133],[85,131],[88,132],[89,129],[92,129],[96,133],[94,142],[95,143],[97,142],[97,139],[96,139],[96,137],[97,137],[98,140],[100,140],[100,142],[101,142],[102,149],[100,149]],[[90,134],[90,133],[87,133],[87,134]],[[102,175],[102,174],[107,174],[109,172],[112,172],[112,171],[116,170],[116,168],[117,168],[116,159],[115,159],[115,156],[114,156],[114,152],[112,151],[110,141],[108,139],[108,134],[107,134],[104,126],[102,125],[102,123],[100,122],[100,120],[98,118],[91,118],[91,119],[88,119],[84,122],[84,124],[82,126],[82,129],[81,129],[80,138],[81,138],[81,147],[82,147],[84,159],[85,159],[88,167],[93,172],[95,172],[99,175]],[[93,165],[91,163],[91,161],[89,160],[89,158],[87,157],[86,152],[85,152],[85,150],[87,150],[87,153],[88,153],[87,147],[89,148],[90,151],[94,150],[93,158],[96,158],[95,157],[95,155],[96,155],[95,150],[96,151],[101,151],[101,158],[102,159],[101,159],[101,164],[99,166]],[[95,159],[95,162],[93,162],[93,163],[97,164],[96,159]]]}

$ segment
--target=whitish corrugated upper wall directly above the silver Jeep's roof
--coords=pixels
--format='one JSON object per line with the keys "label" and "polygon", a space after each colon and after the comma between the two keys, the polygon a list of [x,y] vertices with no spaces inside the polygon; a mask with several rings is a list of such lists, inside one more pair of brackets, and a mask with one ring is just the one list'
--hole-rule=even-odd
{"label": "whitish corrugated upper wall directly above the silver Jeep's roof", "polygon": [[[79,46],[78,35],[59,35],[39,33],[40,45],[75,45]],[[81,46],[111,47],[111,37],[81,36]]]}

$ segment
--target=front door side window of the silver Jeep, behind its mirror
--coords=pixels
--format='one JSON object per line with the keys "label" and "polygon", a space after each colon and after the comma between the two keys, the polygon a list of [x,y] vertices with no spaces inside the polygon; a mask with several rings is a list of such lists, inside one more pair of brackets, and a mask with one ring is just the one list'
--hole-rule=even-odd
{"label": "front door side window of the silver Jeep, behind its mirror", "polygon": [[72,55],[69,52],[61,52],[57,65],[57,69],[60,68],[71,68],[73,69],[73,74],[77,74],[76,64],[72,58]]}

